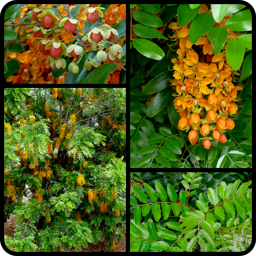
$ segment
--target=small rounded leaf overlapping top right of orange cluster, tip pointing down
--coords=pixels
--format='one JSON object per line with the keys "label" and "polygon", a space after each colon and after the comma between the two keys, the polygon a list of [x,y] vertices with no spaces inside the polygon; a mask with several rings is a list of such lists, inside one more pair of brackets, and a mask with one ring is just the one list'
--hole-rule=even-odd
{"label": "small rounded leaf overlapping top right of orange cluster, tip pointing down", "polygon": [[[223,49],[223,46],[226,43],[226,40],[228,38],[228,31],[223,27],[214,27],[209,31],[208,38],[213,44],[214,54],[217,55]],[[217,150],[216,147],[213,147],[212,149]]]}

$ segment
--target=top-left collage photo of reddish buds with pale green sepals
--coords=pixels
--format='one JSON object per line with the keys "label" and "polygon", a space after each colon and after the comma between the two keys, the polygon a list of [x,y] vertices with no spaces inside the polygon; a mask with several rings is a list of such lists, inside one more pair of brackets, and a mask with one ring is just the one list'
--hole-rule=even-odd
{"label": "top-left collage photo of reddish buds with pale green sepals", "polygon": [[[121,83],[125,83],[125,18],[125,5],[10,6],[5,12],[7,81],[27,83],[32,76],[37,78],[33,82],[45,83],[42,75],[52,68],[50,77],[56,79],[52,83],[105,83],[111,81],[112,72],[119,72],[120,79],[121,70]],[[24,51],[27,45],[33,56]],[[29,57],[35,66],[30,66]],[[35,69],[40,72],[31,73]]]}

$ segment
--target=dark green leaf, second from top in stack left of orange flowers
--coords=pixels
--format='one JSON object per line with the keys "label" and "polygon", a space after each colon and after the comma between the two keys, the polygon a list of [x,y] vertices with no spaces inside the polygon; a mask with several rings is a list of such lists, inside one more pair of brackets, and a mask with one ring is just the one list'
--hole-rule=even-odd
{"label": "dark green leaf, second from top in stack left of orange flowers", "polygon": [[133,12],[133,19],[152,28],[159,28],[163,26],[163,22],[159,17],[142,9]]}

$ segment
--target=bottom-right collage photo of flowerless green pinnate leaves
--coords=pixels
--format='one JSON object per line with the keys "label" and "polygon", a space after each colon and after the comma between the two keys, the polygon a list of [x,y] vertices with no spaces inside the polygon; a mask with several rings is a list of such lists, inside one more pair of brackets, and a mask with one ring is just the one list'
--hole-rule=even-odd
{"label": "bottom-right collage photo of flowerless green pinnate leaves", "polygon": [[251,173],[130,174],[133,182],[142,178],[144,183],[144,188],[131,186],[130,251],[237,252],[250,247],[252,181],[241,185],[237,177]]}

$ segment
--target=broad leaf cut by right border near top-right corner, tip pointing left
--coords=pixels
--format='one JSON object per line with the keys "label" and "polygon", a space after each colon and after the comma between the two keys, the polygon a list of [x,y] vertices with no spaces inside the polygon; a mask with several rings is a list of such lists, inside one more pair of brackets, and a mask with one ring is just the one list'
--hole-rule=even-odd
{"label": "broad leaf cut by right border near top-right corner, tip pointing left", "polygon": [[250,31],[251,30],[251,11],[245,10],[237,12],[230,17],[225,23],[225,27],[235,31]]}

